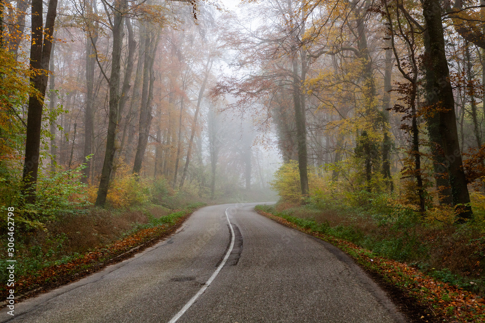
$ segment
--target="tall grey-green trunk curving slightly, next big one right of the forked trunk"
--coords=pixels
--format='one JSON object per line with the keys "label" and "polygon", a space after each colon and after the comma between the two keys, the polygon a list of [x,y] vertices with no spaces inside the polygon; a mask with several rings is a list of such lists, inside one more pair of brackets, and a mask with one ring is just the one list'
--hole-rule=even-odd
{"label": "tall grey-green trunk curving slightly, next big one right of the forked trunk", "polygon": [[118,108],[120,100],[121,79],[121,49],[123,46],[123,15],[127,0],[115,1],[113,10],[113,51],[111,63],[110,87],[110,111],[108,121],[108,136],[106,138],[106,152],[104,155],[101,179],[97,191],[96,205],[103,206],[106,203],[106,195],[110,184],[111,171],[115,152],[116,128],[118,126]]}

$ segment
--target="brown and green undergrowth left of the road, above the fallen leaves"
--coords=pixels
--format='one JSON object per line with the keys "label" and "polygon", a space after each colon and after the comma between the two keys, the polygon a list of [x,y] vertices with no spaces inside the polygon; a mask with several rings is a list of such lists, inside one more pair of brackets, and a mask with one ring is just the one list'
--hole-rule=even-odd
{"label": "brown and green undergrowth left of the road, above the fallen leaves", "polygon": [[[144,212],[140,210],[118,213],[105,211],[101,216],[91,216],[88,219],[80,219],[79,217],[77,219],[64,219],[64,221],[52,225],[52,227],[58,227],[57,232],[51,229],[43,232],[43,234],[39,232],[30,236],[29,239],[17,242],[16,276],[35,277],[44,268],[83,258],[86,253],[92,250],[103,250],[110,243],[136,234],[138,231],[162,225],[174,225],[180,217],[203,205],[204,203],[193,203],[184,209],[163,216],[154,215],[156,208],[151,206],[144,208]],[[151,210],[151,212],[148,210]],[[75,225],[73,221],[76,220],[85,224],[82,232],[70,231],[72,226]],[[80,227],[77,228],[81,230]],[[70,238],[73,234],[80,235],[79,241]],[[0,259],[0,266],[7,268],[5,258]],[[5,270],[0,272],[2,281],[6,281],[7,276]]]}

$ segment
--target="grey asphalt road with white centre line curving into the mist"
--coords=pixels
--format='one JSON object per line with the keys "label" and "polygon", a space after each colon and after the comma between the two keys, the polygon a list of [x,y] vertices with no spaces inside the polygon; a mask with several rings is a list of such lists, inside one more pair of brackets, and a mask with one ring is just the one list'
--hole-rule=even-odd
{"label": "grey asphalt road with white centre line curving into the mist", "polygon": [[337,248],[254,205],[200,209],[156,246],[17,304],[13,319],[3,309],[0,322],[173,322],[203,288],[177,322],[405,322]]}

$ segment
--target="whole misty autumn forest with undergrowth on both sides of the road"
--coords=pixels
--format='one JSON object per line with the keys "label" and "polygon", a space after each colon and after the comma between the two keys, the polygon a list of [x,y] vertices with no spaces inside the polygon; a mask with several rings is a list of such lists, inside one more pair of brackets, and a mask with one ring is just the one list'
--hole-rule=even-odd
{"label": "whole misty autumn forest with undergrowth on both sides of the road", "polygon": [[276,192],[266,211],[485,291],[482,0],[0,10],[0,208],[24,275]]}

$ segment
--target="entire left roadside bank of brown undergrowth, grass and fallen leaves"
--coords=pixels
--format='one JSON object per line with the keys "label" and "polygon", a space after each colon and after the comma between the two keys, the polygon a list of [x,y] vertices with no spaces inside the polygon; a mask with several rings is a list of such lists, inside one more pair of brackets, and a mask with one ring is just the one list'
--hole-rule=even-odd
{"label": "entire left roadside bank of brown undergrowth, grass and fallen leaves", "polygon": [[[94,208],[50,223],[48,230],[31,233],[16,244],[16,295],[48,290],[121,261],[133,249],[175,231],[204,205],[194,203],[180,210],[159,205],[125,211]],[[0,266],[7,268],[6,259]],[[7,281],[6,275],[2,271],[0,279]],[[6,291],[6,285],[0,286],[0,297],[6,297]]]}

